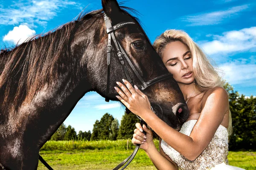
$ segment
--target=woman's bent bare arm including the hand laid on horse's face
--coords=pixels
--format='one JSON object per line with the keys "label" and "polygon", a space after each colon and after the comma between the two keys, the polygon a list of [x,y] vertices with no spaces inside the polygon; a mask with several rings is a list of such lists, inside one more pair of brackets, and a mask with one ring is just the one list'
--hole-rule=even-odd
{"label": "woman's bent bare arm including the hand laid on horse's face", "polygon": [[[132,95],[134,95],[135,90],[131,84],[125,81],[125,85],[128,87],[129,92],[131,91]],[[120,83],[119,86],[127,93],[128,90],[124,85],[122,85],[122,83]],[[180,133],[167,125],[165,122],[163,122],[163,120],[159,119],[149,109],[149,101],[145,94],[143,94],[140,90],[136,89],[137,94],[142,96],[139,97],[139,99],[136,97],[131,99],[126,96],[125,100],[124,95],[126,93],[123,94],[123,92],[119,89],[117,92],[120,94],[120,96],[122,96],[122,99],[120,96],[118,96],[118,99],[121,100],[121,102],[124,103],[124,105],[126,105],[130,111],[130,108],[132,108],[133,113],[140,116],[167,144],[189,160],[194,160],[207,147],[229,107],[227,91],[221,87],[212,89],[211,93],[207,97],[205,105],[202,107],[200,117],[193,127],[190,136],[186,136],[185,134]],[[134,106],[133,103],[136,106]],[[142,110],[145,111],[143,112]]]}

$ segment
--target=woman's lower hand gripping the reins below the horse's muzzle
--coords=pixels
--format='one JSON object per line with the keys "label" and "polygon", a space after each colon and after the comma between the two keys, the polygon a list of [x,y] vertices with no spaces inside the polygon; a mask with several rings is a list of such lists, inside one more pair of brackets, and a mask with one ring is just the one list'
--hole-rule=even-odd
{"label": "woman's lower hand gripping the reins below the horse's muzzle", "polygon": [[134,134],[131,142],[134,145],[140,144],[140,148],[147,152],[150,147],[154,147],[153,133],[149,128],[143,125],[143,130],[147,133],[146,135],[144,135],[140,123],[136,123],[135,126],[137,127],[137,129],[134,129]]}

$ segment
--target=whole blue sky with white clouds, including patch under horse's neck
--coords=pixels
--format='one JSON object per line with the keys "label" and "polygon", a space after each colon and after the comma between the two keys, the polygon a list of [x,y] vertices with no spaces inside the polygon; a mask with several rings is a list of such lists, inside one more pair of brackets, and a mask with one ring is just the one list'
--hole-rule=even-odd
{"label": "whole blue sky with white clouds, including patch under horse's neck", "polygon": [[[118,0],[118,2],[122,2]],[[186,31],[215,60],[239,94],[256,96],[256,2],[254,0],[130,0],[151,42],[166,29]],[[70,22],[85,8],[102,8],[100,0],[0,0],[0,48],[23,42]],[[120,122],[124,108],[95,92],[76,105],[65,125],[92,130],[105,113]]]}

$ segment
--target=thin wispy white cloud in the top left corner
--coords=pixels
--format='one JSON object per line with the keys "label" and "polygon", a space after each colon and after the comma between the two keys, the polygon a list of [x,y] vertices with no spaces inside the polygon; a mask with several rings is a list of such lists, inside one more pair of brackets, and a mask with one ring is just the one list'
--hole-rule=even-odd
{"label": "thin wispy white cloud in the top left corner", "polygon": [[43,22],[45,25],[46,21],[51,20],[67,6],[80,8],[79,3],[68,0],[29,0],[27,3],[15,3],[9,8],[0,6],[0,24],[14,25],[26,22],[33,25],[35,22]]}

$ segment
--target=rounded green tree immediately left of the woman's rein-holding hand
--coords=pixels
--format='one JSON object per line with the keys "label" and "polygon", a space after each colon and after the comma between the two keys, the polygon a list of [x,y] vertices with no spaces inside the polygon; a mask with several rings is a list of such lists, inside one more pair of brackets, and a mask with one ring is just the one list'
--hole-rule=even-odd
{"label": "rounded green tree immediately left of the woman's rein-holding hand", "polygon": [[132,139],[134,134],[135,124],[140,122],[140,119],[133,113],[124,114],[121,119],[117,139]]}

